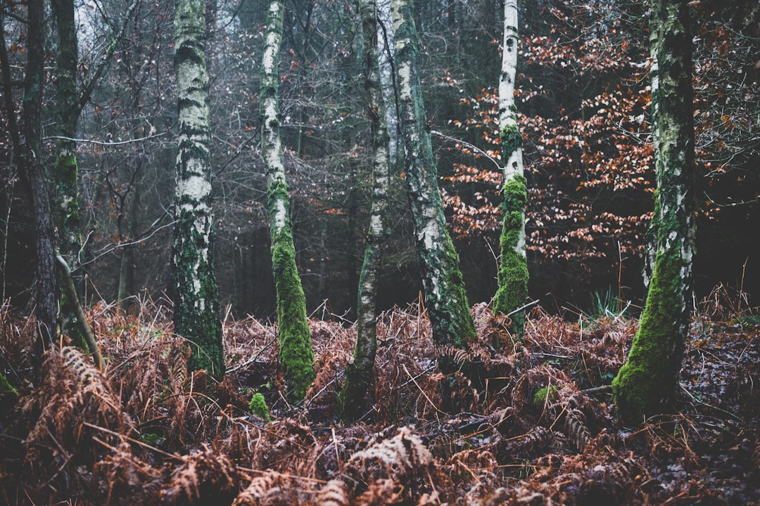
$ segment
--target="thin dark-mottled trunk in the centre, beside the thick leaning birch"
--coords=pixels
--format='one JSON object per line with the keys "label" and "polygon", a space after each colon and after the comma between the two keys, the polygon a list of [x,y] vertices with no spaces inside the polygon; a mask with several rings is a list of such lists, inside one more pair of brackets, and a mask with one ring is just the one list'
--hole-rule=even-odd
{"label": "thin dark-mottled trunk in the centre, beside the thick leaning birch", "polygon": [[378,22],[375,0],[359,0],[362,18],[365,81],[370,129],[372,134],[372,208],[369,217],[359,295],[356,303],[356,347],[353,363],[346,367],[346,385],[342,392],[344,413],[350,418],[365,409],[368,388],[372,382],[377,350],[378,274],[382,267],[382,247],[388,237],[388,190],[391,184],[388,126],[385,123],[385,101],[378,68]]}

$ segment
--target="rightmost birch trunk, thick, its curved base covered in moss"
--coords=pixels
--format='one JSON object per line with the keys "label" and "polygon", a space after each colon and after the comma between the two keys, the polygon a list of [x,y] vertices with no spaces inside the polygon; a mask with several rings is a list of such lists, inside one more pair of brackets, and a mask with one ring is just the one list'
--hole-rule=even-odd
{"label": "rightmost birch trunk, thick, its curved base covered in moss", "polygon": [[679,0],[653,0],[652,116],[657,192],[651,227],[657,237],[644,313],[628,360],[613,380],[625,423],[662,413],[678,384],[689,333],[695,240],[692,38]]}

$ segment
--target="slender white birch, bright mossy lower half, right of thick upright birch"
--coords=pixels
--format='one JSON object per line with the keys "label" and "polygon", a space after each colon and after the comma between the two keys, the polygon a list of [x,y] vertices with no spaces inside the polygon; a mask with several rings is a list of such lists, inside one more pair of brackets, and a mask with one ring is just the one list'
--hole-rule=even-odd
{"label": "slender white birch, bright mossy lower half, right of thick upright birch", "polygon": [[300,401],[315,378],[314,351],[306,297],[296,268],[296,248],[290,229],[290,196],[285,181],[285,163],[280,140],[279,83],[280,45],[283,33],[282,0],[269,2],[264,56],[261,62],[261,152],[267,174],[269,231],[272,272],[277,291],[277,334],[280,364],[290,390]]}

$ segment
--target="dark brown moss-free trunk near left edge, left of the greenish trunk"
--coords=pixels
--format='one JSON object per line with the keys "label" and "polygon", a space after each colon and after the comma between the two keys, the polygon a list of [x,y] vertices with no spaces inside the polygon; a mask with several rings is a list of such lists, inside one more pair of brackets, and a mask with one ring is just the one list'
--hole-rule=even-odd
{"label": "dark brown moss-free trunk near left edge, left of the greenish trunk", "polygon": [[32,190],[36,231],[36,319],[40,340],[35,359],[55,340],[55,248],[42,142],[42,103],[45,62],[45,8],[42,0],[29,0],[27,71],[24,82],[24,168]]}

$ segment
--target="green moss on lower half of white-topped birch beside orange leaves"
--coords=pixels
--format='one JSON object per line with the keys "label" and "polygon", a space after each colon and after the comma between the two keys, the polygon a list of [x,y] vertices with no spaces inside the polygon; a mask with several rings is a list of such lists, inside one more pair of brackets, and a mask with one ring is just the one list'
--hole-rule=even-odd
{"label": "green moss on lower half of white-topped birch beside orange leaves", "polygon": [[[499,289],[493,299],[493,312],[509,314],[524,306],[527,300],[527,259],[518,250],[524,229],[527,203],[526,179],[515,174],[504,185],[504,222],[499,239]],[[525,325],[523,312],[511,316],[511,332],[522,335]]]}

